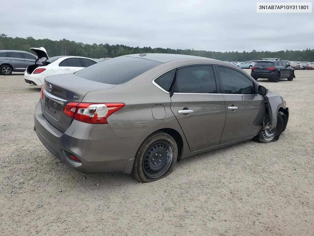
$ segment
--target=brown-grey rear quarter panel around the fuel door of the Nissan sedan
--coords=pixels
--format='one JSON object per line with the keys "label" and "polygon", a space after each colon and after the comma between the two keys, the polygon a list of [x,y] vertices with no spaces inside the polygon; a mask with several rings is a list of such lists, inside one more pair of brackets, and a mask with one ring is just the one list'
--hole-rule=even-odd
{"label": "brown-grey rear quarter panel around the fuel door of the Nissan sedan", "polygon": [[[148,136],[159,129],[171,128],[184,139],[181,127],[170,109],[170,94],[152,83],[154,78],[180,65],[162,64],[114,88],[87,93],[82,102],[125,103],[125,107],[107,119],[118,138]],[[158,104],[165,107],[165,118],[155,120],[152,107]]]}

